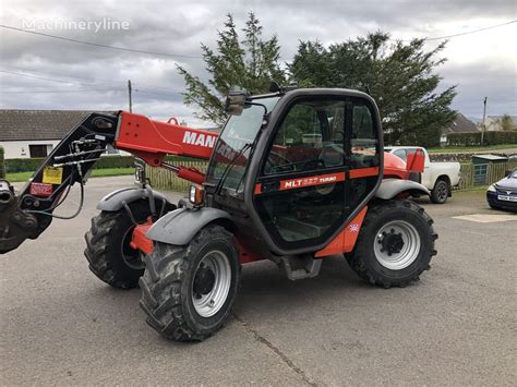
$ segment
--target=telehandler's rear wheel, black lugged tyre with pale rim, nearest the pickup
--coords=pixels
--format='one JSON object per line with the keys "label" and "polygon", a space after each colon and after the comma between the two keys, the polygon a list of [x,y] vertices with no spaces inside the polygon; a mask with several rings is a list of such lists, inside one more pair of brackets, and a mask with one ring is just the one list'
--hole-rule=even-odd
{"label": "telehandler's rear wheel, black lugged tyre with pale rim, nearest the pickup", "polygon": [[356,247],[346,258],[371,285],[405,287],[417,281],[436,255],[433,220],[410,201],[382,202],[368,209]]}

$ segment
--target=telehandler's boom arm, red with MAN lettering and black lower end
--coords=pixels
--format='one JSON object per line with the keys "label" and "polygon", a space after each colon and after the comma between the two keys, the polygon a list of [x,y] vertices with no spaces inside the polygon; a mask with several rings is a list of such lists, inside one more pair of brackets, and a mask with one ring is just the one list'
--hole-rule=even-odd
{"label": "telehandler's boom arm, red with MAN lettering and black lower end", "polygon": [[17,196],[7,181],[0,181],[0,254],[16,249],[27,238],[38,238],[52,217],[58,217],[52,213],[74,183],[81,184],[82,206],[87,174],[109,146],[153,167],[167,166],[178,177],[201,184],[205,178],[202,172],[165,164],[164,158],[181,155],[208,159],[216,138],[216,133],[125,111],[89,114],[53,148]]}

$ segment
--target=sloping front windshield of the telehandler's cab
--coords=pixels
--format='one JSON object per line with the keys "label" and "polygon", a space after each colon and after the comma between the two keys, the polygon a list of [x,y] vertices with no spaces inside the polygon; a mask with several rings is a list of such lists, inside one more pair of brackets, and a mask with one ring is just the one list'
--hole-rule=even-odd
{"label": "sloping front windshield of the telehandler's cab", "polygon": [[[262,104],[272,111],[279,97],[257,98],[253,101]],[[251,105],[241,116],[230,116],[217,141],[212,162],[208,167],[207,180],[217,183],[225,173],[223,188],[242,189],[248,158],[253,141],[261,129],[264,108]],[[231,164],[231,166],[230,166]],[[226,170],[226,172],[225,172]]]}

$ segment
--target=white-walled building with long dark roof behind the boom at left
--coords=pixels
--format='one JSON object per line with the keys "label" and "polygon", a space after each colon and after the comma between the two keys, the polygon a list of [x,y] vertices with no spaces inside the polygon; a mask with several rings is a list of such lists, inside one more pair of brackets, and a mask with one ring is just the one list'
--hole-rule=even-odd
{"label": "white-walled building with long dark roof behind the boom at left", "polygon": [[46,157],[91,111],[0,109],[0,146],[5,159]]}

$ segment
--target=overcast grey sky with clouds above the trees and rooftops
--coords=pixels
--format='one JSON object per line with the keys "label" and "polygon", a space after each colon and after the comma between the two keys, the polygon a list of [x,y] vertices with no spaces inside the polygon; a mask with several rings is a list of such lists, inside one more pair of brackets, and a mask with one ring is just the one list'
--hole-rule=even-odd
{"label": "overcast grey sky with clouds above the trees and rooftops", "polygon": [[[255,12],[264,36],[278,35],[282,61],[292,58],[299,40],[329,45],[376,29],[393,38],[432,38],[517,19],[516,0],[0,1],[3,25],[179,56],[124,52],[0,28],[1,108],[128,109],[131,78],[136,89],[133,111],[156,119],[177,117],[191,125],[203,123],[182,104],[184,83],[176,65],[206,78],[204,62],[195,57],[201,43],[214,46],[228,12],[239,28],[248,12]],[[81,29],[79,22],[91,23]],[[458,85],[453,108],[482,117],[486,96],[489,114],[517,116],[516,37],[514,23],[449,39],[443,51],[448,61],[437,72],[442,87]],[[429,41],[428,48],[438,43]]]}

